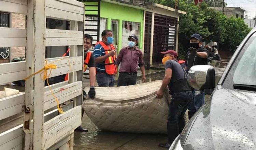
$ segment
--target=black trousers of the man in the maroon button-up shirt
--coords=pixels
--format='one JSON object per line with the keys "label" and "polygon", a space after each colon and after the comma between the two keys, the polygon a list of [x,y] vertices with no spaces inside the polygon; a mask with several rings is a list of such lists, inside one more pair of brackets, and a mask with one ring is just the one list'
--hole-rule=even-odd
{"label": "black trousers of the man in the maroon button-up shirt", "polygon": [[117,80],[117,86],[131,86],[136,85],[137,74],[129,75],[124,72],[120,72]]}

